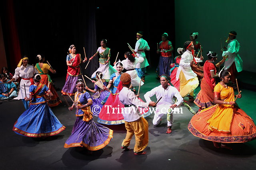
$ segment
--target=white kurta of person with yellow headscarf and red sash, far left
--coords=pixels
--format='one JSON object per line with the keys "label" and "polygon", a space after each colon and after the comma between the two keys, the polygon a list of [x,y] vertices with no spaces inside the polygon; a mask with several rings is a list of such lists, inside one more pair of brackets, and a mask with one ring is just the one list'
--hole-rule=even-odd
{"label": "white kurta of person with yellow headscarf and red sash, far left", "polygon": [[[14,74],[13,78],[15,80],[17,80],[17,78],[19,78],[19,77],[32,78],[35,73],[38,73],[38,71],[36,70],[36,68],[33,68],[32,65],[28,64],[28,65],[26,65],[26,67],[24,67],[22,65],[15,69],[15,74]],[[20,99],[24,99],[26,97],[24,84],[25,84],[25,88],[26,88],[26,95],[29,98],[29,86],[30,86],[31,82],[30,82],[30,80],[21,79],[20,80],[20,92],[18,94],[18,97],[14,98],[14,99],[20,100]]]}

